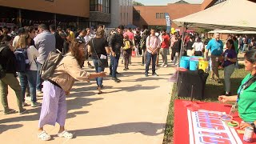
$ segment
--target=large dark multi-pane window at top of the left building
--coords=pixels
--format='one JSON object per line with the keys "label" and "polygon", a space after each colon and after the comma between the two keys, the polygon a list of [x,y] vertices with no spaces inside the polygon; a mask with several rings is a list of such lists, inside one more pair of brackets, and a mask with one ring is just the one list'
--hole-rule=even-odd
{"label": "large dark multi-pane window at top of the left building", "polygon": [[90,11],[110,14],[110,0],[90,0]]}

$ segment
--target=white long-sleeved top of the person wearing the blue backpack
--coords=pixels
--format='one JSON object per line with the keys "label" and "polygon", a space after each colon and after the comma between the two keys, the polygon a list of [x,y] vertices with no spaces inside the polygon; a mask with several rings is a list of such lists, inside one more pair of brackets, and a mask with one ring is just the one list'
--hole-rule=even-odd
{"label": "white long-sleeved top of the person wearing the blue backpack", "polygon": [[38,66],[35,63],[35,59],[39,56],[38,50],[34,46],[30,46],[26,51],[30,61],[30,70],[38,70]]}

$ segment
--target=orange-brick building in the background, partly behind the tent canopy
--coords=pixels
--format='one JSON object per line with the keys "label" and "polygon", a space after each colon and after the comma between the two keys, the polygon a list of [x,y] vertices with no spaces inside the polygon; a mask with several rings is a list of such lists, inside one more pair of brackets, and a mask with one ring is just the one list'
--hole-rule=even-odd
{"label": "orange-brick building in the background, partly behind the tent canopy", "polygon": [[[170,20],[182,18],[189,14],[205,10],[226,0],[204,0],[202,4],[189,4],[184,1],[168,3],[167,6],[134,6],[134,25],[142,28],[148,26],[166,26],[165,13],[169,13]],[[256,2],[256,0],[250,0]],[[178,28],[174,23],[171,27]]]}

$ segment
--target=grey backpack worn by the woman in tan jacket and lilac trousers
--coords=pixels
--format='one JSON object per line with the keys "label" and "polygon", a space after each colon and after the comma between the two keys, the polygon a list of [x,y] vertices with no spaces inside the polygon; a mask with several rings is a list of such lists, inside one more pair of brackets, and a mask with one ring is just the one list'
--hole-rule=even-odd
{"label": "grey backpack worn by the woman in tan jacket and lilac trousers", "polygon": [[40,77],[47,81],[52,74],[54,74],[54,70],[58,66],[58,63],[61,62],[63,58],[63,54],[60,50],[56,49],[51,51],[46,58],[46,61],[43,62]]}

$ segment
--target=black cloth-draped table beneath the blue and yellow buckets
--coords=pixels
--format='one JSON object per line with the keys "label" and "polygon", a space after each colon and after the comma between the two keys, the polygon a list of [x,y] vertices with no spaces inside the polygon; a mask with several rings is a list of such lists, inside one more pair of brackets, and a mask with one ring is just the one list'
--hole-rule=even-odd
{"label": "black cloth-draped table beneath the blue and yellow buckets", "polygon": [[193,86],[193,98],[203,99],[208,73],[203,70],[186,70],[178,72],[178,97],[191,96]]}

